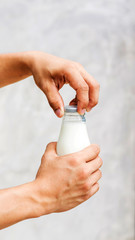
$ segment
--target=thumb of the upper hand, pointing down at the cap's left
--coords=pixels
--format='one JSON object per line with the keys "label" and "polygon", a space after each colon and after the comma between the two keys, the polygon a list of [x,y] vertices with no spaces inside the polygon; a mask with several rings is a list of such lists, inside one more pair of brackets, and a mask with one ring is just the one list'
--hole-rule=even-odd
{"label": "thumb of the upper hand, pointing down at the cap's left", "polygon": [[52,82],[48,82],[48,84],[46,81],[42,90],[44,91],[47,100],[57,117],[62,117],[64,115],[64,102],[53,80]]}

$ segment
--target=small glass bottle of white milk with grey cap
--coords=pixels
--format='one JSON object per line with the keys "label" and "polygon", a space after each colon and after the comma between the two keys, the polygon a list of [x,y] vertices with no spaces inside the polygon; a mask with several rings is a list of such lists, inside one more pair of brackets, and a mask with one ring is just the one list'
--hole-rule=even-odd
{"label": "small glass bottle of white milk with grey cap", "polygon": [[59,156],[78,152],[90,145],[85,114],[77,112],[77,106],[66,106],[62,121],[60,135],[57,143]]}

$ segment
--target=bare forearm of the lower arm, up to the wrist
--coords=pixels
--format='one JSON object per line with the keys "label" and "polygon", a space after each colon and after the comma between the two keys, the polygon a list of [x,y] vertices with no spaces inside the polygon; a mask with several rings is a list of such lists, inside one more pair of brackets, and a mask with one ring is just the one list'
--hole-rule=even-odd
{"label": "bare forearm of the lower arm, up to the wrist", "polygon": [[40,216],[33,183],[0,190],[0,229]]}

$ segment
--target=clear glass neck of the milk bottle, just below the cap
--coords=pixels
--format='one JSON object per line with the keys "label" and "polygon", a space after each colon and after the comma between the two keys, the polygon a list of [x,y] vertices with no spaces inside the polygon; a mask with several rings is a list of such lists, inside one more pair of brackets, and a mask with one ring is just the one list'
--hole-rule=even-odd
{"label": "clear glass neck of the milk bottle, just below the cap", "polygon": [[86,122],[85,114],[80,115],[79,113],[64,113],[63,122]]}

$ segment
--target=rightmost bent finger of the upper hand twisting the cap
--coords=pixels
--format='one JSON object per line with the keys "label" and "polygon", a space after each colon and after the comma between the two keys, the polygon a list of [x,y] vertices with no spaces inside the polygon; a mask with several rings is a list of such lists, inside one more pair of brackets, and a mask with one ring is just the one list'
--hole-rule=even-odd
{"label": "rightmost bent finger of the upper hand twisting the cap", "polygon": [[84,79],[89,86],[89,105],[87,111],[97,105],[99,99],[99,83],[86,71],[84,73]]}

